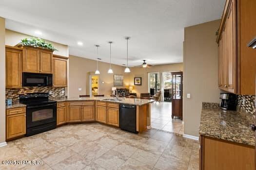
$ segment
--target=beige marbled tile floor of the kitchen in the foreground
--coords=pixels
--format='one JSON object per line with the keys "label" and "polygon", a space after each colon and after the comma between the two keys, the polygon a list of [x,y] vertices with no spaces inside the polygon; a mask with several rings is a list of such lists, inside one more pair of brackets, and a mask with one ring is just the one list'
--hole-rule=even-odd
{"label": "beige marbled tile floor of the kitchen in the foreground", "polygon": [[147,130],[136,135],[99,123],[71,124],[0,148],[0,170],[198,170],[198,141]]}

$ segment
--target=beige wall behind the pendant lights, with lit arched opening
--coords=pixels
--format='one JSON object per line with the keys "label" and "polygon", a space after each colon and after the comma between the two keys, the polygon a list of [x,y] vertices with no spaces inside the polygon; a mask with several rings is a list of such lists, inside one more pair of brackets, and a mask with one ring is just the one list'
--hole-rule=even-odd
{"label": "beige wall behind the pendant lights, with lit arched opening", "polygon": [[[124,73],[122,66],[112,65],[114,74],[124,75],[124,86],[129,86],[129,73]],[[98,62],[99,74],[99,94],[110,95],[111,87],[114,83],[114,74],[108,74],[109,63]],[[96,61],[77,56],[69,56],[69,85],[68,96],[78,97],[79,95],[89,95],[89,75],[93,75],[96,70]],[[104,84],[102,84],[104,82]],[[81,91],[78,88],[82,88]]]}

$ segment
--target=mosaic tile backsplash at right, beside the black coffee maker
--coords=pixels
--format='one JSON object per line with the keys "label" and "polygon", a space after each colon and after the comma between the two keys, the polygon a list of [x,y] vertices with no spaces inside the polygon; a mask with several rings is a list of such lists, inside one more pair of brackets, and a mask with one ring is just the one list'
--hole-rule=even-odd
{"label": "mosaic tile backsplash at right, beside the black coffee maker", "polygon": [[238,95],[237,109],[250,122],[255,120],[255,95]]}

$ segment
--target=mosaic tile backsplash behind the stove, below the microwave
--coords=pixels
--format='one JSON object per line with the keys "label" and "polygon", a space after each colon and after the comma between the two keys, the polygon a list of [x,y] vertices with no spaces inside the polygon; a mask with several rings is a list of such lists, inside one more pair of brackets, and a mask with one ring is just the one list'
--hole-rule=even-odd
{"label": "mosaic tile backsplash behind the stove, below the microwave", "polygon": [[6,88],[5,99],[18,100],[20,94],[27,93],[50,93],[51,97],[65,96],[65,87],[22,87],[22,88]]}

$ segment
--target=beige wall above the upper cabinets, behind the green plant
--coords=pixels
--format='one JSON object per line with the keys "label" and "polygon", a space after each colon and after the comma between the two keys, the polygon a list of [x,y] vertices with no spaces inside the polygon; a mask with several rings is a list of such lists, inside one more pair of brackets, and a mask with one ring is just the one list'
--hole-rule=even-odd
{"label": "beige wall above the upper cabinets, behind the green plant", "polygon": [[[21,39],[29,38],[29,37],[32,37],[32,36],[27,35],[27,34],[18,33],[18,32],[12,31],[12,30],[8,30],[8,29],[5,30],[5,44],[9,45],[9,46],[15,46],[20,42]],[[68,57],[68,46],[67,45],[59,44],[59,43],[52,42],[52,41],[47,41],[47,42],[51,43],[56,49],[58,49],[58,51],[54,51],[53,54]]]}

